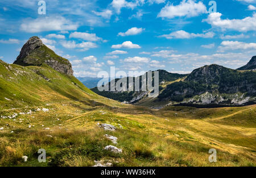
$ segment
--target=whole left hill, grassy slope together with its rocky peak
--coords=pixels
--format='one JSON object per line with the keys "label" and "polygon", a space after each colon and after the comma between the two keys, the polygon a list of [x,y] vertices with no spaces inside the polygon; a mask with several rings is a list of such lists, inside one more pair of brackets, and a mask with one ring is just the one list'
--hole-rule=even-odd
{"label": "whole left hill, grassy slope together with its rocky peak", "polygon": [[[58,63],[52,66],[49,61]],[[0,110],[70,100],[93,100],[94,103],[96,100],[109,100],[98,96],[77,80],[69,64],[67,59],[56,55],[38,37],[30,38],[15,64],[0,60]],[[64,65],[70,67],[68,71],[64,70],[65,67],[61,68]]]}

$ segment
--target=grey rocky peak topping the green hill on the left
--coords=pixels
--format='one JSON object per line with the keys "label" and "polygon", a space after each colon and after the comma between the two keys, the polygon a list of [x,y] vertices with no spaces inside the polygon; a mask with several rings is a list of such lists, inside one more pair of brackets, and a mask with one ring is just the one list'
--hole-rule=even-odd
{"label": "grey rocky peak topping the green hill on the left", "polygon": [[37,36],[31,37],[27,43],[23,45],[14,64],[23,66],[41,66],[47,64],[58,72],[68,74],[69,76],[73,75],[71,63],[67,59],[56,55],[56,53],[44,45],[42,40]]}

